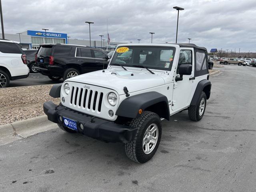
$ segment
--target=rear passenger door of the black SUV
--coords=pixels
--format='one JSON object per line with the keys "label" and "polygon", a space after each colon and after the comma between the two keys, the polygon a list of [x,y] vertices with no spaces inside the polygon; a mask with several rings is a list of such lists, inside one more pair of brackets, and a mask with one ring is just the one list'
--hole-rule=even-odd
{"label": "rear passenger door of the black SUV", "polygon": [[76,48],[76,60],[82,70],[82,73],[95,71],[96,62],[92,54],[92,49],[90,48]]}

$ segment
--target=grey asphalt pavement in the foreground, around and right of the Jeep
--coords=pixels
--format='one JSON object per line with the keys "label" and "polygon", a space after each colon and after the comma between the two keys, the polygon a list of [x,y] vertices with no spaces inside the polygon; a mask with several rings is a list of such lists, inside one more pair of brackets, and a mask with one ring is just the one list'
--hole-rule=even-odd
{"label": "grey asphalt pavement in the foreground, around and right of the Jeep", "polygon": [[210,77],[204,118],[164,120],[154,158],[134,163],[124,144],[59,128],[0,146],[0,189],[9,191],[249,192],[256,189],[256,68]]}

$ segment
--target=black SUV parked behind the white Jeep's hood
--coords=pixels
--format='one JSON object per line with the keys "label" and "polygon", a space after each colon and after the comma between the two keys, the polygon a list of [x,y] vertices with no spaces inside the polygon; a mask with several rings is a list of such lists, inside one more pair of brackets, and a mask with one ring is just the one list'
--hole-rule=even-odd
{"label": "black SUV parked behind the white Jeep's hood", "polygon": [[103,51],[80,45],[42,44],[36,54],[35,69],[51,80],[64,80],[108,67]]}

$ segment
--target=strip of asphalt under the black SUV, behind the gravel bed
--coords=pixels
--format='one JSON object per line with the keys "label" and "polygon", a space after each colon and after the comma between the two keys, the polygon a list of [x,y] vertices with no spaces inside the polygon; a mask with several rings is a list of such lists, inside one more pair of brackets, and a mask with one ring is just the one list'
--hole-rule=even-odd
{"label": "strip of asphalt under the black SUV, behind the gravel bed", "polygon": [[55,83],[62,83],[62,82],[63,82],[62,79],[59,81],[52,81],[48,78],[48,76],[45,76],[39,73],[31,73],[27,78],[10,81],[9,87],[45,85],[45,84],[55,84]]}

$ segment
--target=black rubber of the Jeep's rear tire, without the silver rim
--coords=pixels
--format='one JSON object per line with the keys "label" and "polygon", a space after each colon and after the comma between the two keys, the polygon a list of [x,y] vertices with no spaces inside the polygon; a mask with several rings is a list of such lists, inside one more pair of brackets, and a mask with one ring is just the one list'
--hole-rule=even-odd
{"label": "black rubber of the Jeep's rear tire, without the silver rim", "polygon": [[206,94],[204,92],[201,93],[196,105],[190,105],[188,107],[188,116],[189,116],[190,120],[192,120],[192,121],[200,121],[204,116],[204,112],[202,113],[201,116],[199,115],[199,106],[200,106],[200,101],[202,100],[202,98],[204,98],[204,102],[205,102],[205,106],[204,106],[204,112],[205,112]]}

